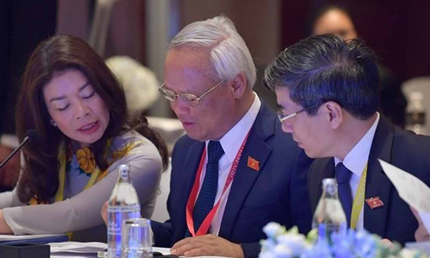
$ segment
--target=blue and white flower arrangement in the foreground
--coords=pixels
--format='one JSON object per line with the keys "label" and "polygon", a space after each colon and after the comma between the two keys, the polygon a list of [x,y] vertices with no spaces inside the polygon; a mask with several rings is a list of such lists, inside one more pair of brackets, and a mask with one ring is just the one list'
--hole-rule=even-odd
{"label": "blue and white flower arrangement in the foreground", "polygon": [[286,230],[284,226],[270,222],[263,227],[267,239],[261,240],[259,258],[425,258],[426,254],[402,248],[398,243],[387,245],[381,237],[365,230],[348,230],[347,234],[332,233],[329,241],[316,241],[317,232],[307,236],[297,227]]}

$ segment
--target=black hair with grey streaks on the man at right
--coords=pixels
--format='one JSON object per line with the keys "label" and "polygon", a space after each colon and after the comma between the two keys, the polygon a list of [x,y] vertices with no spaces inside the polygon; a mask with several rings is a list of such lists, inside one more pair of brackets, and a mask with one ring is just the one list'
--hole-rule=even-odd
{"label": "black hair with grey streaks on the man at right", "polygon": [[375,114],[380,79],[375,54],[362,40],[343,41],[333,35],[308,37],[277,55],[264,71],[264,84],[287,87],[292,101],[315,115],[334,101],[359,119]]}

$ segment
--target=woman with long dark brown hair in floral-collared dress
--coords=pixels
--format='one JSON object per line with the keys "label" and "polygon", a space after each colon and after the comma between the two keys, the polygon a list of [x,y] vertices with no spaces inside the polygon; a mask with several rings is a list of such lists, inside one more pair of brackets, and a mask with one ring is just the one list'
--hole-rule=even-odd
{"label": "woman with long dark brown hair in floral-collared dress", "polygon": [[100,209],[123,163],[131,166],[142,216],[150,218],[166,145],[144,117],[129,117],[103,58],[77,37],[54,36],[34,50],[22,83],[18,139],[29,129],[39,137],[23,148],[15,189],[0,194],[0,233],[105,230]]}

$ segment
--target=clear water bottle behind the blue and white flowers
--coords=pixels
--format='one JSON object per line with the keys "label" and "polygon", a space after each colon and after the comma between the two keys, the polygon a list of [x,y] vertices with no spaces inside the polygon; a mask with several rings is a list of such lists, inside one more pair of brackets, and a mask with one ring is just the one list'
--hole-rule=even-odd
{"label": "clear water bottle behind the blue and white flowers", "polygon": [[322,179],[322,195],[313,214],[312,227],[318,229],[318,242],[330,243],[333,232],[347,232],[347,219],[335,178]]}

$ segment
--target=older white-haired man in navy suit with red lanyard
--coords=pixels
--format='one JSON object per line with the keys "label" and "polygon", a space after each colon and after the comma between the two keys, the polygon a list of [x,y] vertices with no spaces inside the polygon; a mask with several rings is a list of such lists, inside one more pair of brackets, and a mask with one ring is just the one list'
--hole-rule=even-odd
{"label": "older white-haired man in navy suit with red lanyard", "polygon": [[255,257],[270,221],[310,230],[311,160],[252,90],[255,65],[224,15],[171,41],[160,92],[184,126],[172,153],[170,220],[153,221],[172,254]]}

